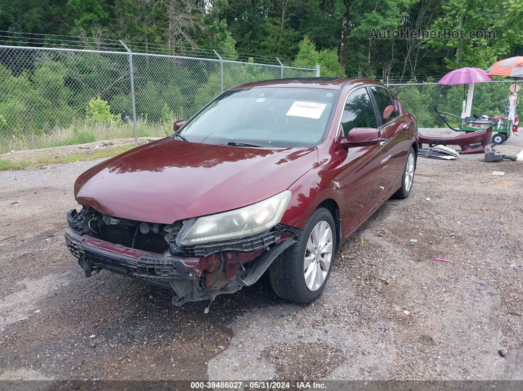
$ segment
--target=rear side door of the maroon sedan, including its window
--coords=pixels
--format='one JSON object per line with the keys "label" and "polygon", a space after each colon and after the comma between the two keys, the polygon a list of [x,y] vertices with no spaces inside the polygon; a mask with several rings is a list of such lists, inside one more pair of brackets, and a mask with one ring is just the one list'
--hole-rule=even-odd
{"label": "rear side door of the maroon sedan, including its window", "polygon": [[[378,126],[381,137],[388,146],[388,165],[386,170],[386,196],[395,191],[401,183],[401,176],[405,169],[410,143],[410,123],[401,109],[401,104],[392,93],[379,86],[370,86],[372,96],[378,109]],[[381,123],[380,123],[381,122]]]}

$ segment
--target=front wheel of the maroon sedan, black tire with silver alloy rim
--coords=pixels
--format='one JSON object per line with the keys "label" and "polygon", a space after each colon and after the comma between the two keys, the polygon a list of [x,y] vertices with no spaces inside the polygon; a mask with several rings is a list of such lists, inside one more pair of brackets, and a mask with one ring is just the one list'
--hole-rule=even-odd
{"label": "front wheel of the maroon sedan, black tire with silver alloy rim", "polygon": [[[317,256],[317,253],[314,254],[309,251],[314,242],[312,239],[313,229],[320,227],[320,229],[324,229],[322,232],[328,232],[326,231],[327,226],[332,234],[330,242],[332,250],[328,266],[325,262],[328,258],[326,253]],[[315,233],[316,232],[318,231],[315,231]],[[309,242],[310,238],[311,242]],[[293,301],[294,303],[309,304],[322,294],[327,280],[331,275],[332,264],[336,256],[336,229],[331,212],[325,208],[316,209],[307,221],[305,229],[295,239],[296,243],[284,251],[270,265],[270,285],[272,290],[282,299]],[[327,244],[324,248],[328,248],[328,246]],[[305,256],[308,256],[309,259],[305,260]],[[309,264],[307,269],[305,269],[306,262]],[[318,274],[319,279],[324,279],[321,283],[319,283],[319,279],[314,280],[315,282],[313,283],[312,273],[319,271],[320,269],[318,269],[318,267],[322,272],[321,275]],[[312,290],[306,282],[305,272],[309,272],[309,285],[312,286]]]}

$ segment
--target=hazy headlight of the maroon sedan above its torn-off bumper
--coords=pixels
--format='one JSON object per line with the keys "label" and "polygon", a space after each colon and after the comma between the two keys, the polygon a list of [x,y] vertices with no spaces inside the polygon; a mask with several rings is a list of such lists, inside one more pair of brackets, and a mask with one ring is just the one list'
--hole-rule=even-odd
{"label": "hazy headlight of the maroon sedan above its torn-off bumper", "polygon": [[283,191],[259,203],[188,220],[176,242],[182,246],[244,238],[276,226],[287,208],[291,192]]}

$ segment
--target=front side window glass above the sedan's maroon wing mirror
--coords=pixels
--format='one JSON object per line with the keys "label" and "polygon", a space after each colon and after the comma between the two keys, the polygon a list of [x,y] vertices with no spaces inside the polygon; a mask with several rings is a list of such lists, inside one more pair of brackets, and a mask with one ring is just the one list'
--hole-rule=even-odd
{"label": "front side window glass above the sedan's maroon wing mirror", "polygon": [[376,115],[365,87],[350,93],[342,114],[342,126],[345,137],[355,127],[378,127]]}

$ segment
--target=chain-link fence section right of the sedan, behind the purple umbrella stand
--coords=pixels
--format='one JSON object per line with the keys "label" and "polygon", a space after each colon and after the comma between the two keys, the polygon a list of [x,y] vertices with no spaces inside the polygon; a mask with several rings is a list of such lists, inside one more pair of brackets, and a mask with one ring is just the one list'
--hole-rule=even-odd
{"label": "chain-link fence section right of the sedan, behind the purple umbrella stand", "polygon": [[[504,115],[510,94],[509,86],[514,81],[492,81],[476,83],[472,100],[472,114],[499,116]],[[436,113],[445,115],[449,125],[456,127],[462,111],[463,100],[467,99],[468,85],[445,86],[436,83],[388,84],[397,94],[406,110],[416,116],[420,128],[447,127]]]}

